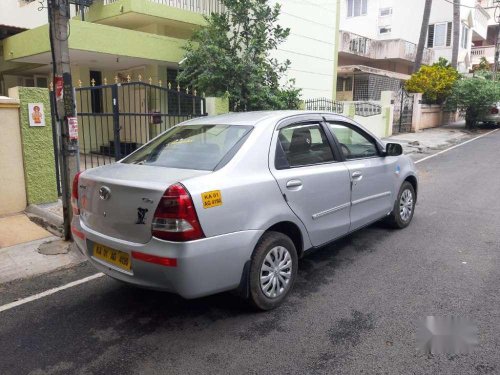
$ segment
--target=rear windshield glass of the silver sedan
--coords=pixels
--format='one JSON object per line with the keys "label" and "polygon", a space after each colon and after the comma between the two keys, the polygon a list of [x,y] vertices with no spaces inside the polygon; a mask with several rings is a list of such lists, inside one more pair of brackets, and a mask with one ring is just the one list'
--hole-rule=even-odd
{"label": "rear windshield glass of the silver sedan", "polygon": [[214,170],[241,147],[251,126],[181,125],[152,140],[122,163]]}

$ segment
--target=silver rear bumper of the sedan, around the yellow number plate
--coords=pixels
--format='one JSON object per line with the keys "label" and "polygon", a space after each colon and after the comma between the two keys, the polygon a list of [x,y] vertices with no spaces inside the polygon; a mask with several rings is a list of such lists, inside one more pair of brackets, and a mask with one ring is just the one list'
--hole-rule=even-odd
{"label": "silver rear bumper of the sedan, around the yellow number plate", "polygon": [[[76,231],[76,232],[75,232]],[[263,231],[249,230],[190,242],[168,242],[152,238],[146,244],[127,242],[95,232],[73,219],[75,242],[99,271],[126,283],[164,290],[184,298],[197,298],[237,288],[245,263],[250,259]],[[131,257],[131,271],[97,259],[93,245],[99,243],[128,253],[141,252],[176,259],[177,265],[163,266]]]}

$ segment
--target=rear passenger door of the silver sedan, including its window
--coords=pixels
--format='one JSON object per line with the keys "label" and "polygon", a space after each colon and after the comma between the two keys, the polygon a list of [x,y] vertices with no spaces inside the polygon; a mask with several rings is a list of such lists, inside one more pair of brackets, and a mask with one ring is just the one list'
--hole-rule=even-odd
{"label": "rear passenger door of the silver sedan, including its window", "polygon": [[[275,132],[271,171],[314,246],[349,231],[350,179],[335,160],[319,122],[295,123]],[[338,156],[337,156],[338,159]]]}

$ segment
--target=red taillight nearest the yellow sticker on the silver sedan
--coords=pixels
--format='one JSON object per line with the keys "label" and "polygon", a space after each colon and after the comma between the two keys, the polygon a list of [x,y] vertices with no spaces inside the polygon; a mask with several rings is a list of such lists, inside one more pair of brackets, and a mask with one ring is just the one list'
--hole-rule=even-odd
{"label": "red taillight nearest the yellow sticker on the silver sedan", "polygon": [[167,241],[193,241],[205,237],[191,195],[181,184],[170,186],[158,203],[153,236]]}

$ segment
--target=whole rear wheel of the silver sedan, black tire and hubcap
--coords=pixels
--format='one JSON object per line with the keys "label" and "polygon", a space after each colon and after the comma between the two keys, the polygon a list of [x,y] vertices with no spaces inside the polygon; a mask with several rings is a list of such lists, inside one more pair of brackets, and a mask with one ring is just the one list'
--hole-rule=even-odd
{"label": "whole rear wheel of the silver sedan, black tire and hubcap", "polygon": [[249,303],[258,310],[272,310],[281,305],[293,288],[297,269],[293,241],[283,233],[264,233],[250,262]]}

